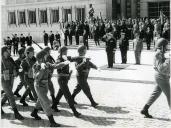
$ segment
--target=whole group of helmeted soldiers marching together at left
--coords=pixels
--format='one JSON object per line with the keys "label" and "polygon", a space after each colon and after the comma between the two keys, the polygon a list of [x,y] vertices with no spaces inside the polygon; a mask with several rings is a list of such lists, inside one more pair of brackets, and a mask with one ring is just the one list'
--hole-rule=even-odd
{"label": "whole group of helmeted soldiers marching together at left", "polygon": [[[13,108],[15,118],[23,120],[24,117],[18,112],[15,97],[21,97],[20,103],[27,107],[26,97],[29,96],[30,100],[36,102],[34,110],[31,112],[31,116],[36,120],[41,120],[38,115],[39,110],[43,110],[47,115],[51,127],[59,127],[53,118],[53,112],[59,112],[57,105],[60,102],[61,97],[64,95],[69,107],[73,111],[75,117],[80,117],[81,113],[76,110],[74,100],[75,96],[83,90],[87,98],[91,102],[92,107],[97,107],[90,91],[87,79],[91,68],[98,69],[94,65],[90,58],[86,58],[86,47],[80,46],[78,48],[78,56],[67,56],[67,47],[62,46],[59,48],[59,56],[55,61],[50,55],[50,47],[45,47],[34,56],[34,48],[28,46],[20,48],[18,50],[19,57],[14,61],[10,55],[10,49],[7,46],[1,48],[2,62],[2,89],[4,95],[1,100],[1,106],[9,100],[11,107]],[[70,71],[69,64],[75,62],[77,70],[77,86],[74,89],[73,94],[69,91],[68,81],[71,77],[72,71]],[[54,69],[57,69],[59,90],[55,96],[55,89],[51,81]],[[13,83],[15,77],[19,76],[20,82],[14,93],[12,92]],[[19,91],[25,86],[25,92],[21,96]],[[47,93],[50,91],[52,97],[52,103],[48,99]],[[1,108],[1,113],[5,114]]]}

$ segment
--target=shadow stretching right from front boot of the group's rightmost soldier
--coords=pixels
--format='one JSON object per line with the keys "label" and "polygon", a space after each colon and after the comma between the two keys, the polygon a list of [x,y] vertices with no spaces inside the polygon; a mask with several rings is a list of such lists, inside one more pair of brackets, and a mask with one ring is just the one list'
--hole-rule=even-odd
{"label": "shadow stretching right from front boot of the group's rightmost soldier", "polygon": [[125,107],[109,107],[109,106],[98,106],[96,109],[105,111],[106,113],[113,114],[127,114],[129,111],[123,110]]}

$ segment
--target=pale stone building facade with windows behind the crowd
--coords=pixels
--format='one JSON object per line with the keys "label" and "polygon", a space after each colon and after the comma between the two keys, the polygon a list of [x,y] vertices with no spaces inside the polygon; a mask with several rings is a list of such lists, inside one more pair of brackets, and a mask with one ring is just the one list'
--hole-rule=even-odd
{"label": "pale stone building facade with windows behind the crowd", "polygon": [[95,17],[103,19],[156,18],[160,9],[170,15],[170,0],[6,0],[2,6],[2,38],[30,33],[41,42],[43,31],[56,32],[61,21],[85,20],[90,4]]}

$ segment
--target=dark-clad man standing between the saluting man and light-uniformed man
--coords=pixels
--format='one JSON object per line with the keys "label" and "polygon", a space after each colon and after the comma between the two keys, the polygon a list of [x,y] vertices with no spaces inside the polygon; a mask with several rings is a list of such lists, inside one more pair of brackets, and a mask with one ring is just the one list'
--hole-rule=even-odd
{"label": "dark-clad man standing between the saluting man and light-uniformed man", "polygon": [[122,64],[126,64],[126,62],[127,62],[128,46],[129,46],[129,42],[128,42],[128,39],[126,37],[126,34],[122,32],[121,38],[119,40],[119,48],[121,51]]}

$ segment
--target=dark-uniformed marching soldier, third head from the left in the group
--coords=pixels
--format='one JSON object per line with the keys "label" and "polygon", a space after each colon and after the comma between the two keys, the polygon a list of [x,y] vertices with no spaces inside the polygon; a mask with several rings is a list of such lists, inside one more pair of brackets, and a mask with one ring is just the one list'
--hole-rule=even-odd
{"label": "dark-uniformed marching soldier, third head from the left in the group", "polygon": [[26,97],[29,95],[29,93],[33,93],[34,99],[37,99],[37,94],[34,89],[34,78],[33,78],[33,65],[36,62],[36,58],[34,57],[34,48],[32,46],[29,46],[25,50],[26,58],[22,61],[21,67],[24,72],[24,81],[27,84],[27,89],[24,92],[23,96],[20,99],[20,103],[23,104],[23,106],[28,106],[28,104],[25,102]]}

